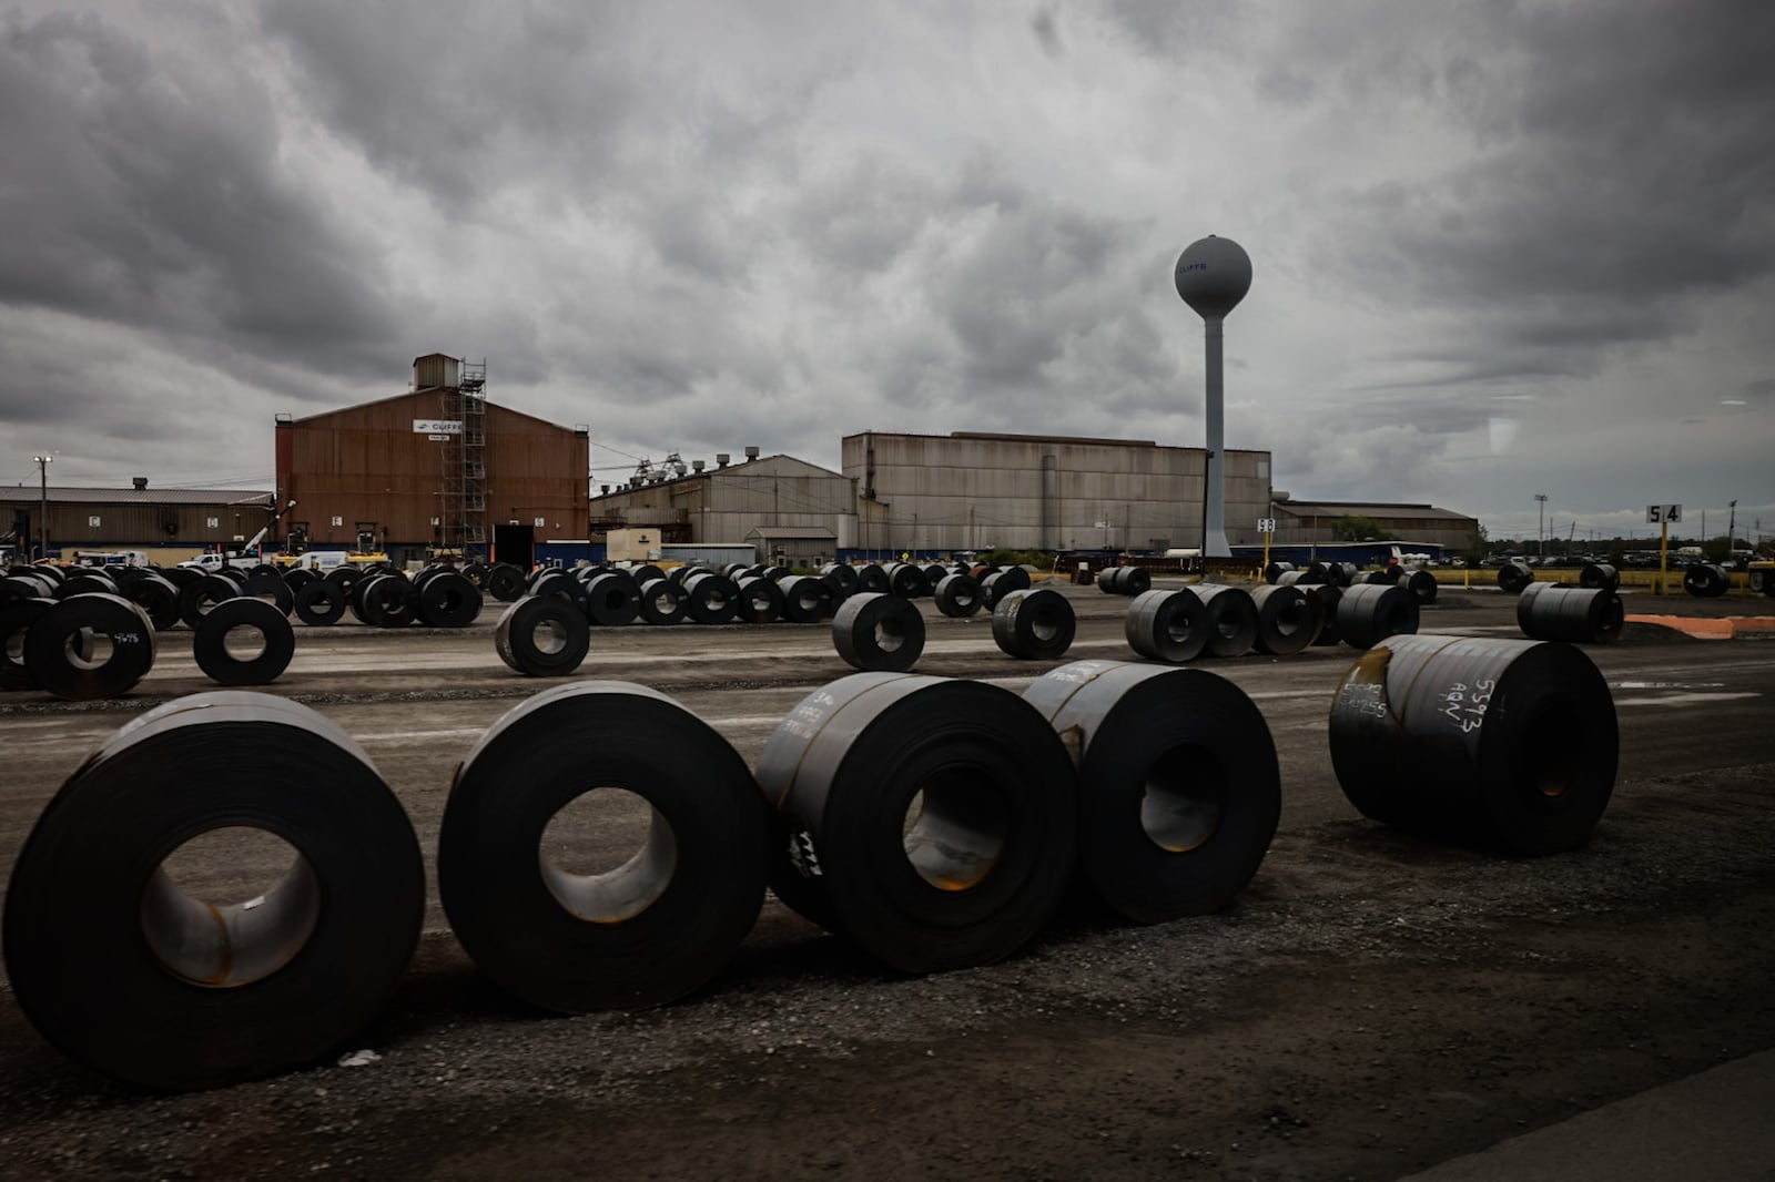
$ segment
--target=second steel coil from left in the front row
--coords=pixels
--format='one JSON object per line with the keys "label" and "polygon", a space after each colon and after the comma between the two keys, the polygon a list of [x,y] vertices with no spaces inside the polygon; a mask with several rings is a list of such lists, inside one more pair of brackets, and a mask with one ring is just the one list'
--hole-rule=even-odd
{"label": "second steel coil from left in the front row", "polygon": [[[628,808],[589,813],[612,799]],[[588,841],[568,809],[632,855],[575,861]],[[524,1001],[650,1006],[698,989],[740,946],[767,848],[767,809],[728,740],[651,689],[579,682],[509,710],[462,761],[438,894],[469,957]]]}

